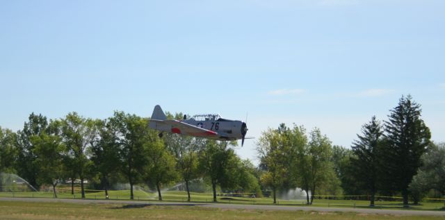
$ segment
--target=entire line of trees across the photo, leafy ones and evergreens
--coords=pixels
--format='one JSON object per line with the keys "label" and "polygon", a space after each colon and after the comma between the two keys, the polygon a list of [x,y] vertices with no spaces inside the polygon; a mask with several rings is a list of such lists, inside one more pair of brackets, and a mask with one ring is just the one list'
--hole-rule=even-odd
{"label": "entire line of trees across the photo, leafy ones and evergreens", "polygon": [[[182,114],[168,117],[181,119]],[[317,195],[401,195],[403,204],[414,203],[434,190],[445,194],[445,146],[430,142],[430,130],[421,108],[411,96],[402,96],[387,121],[375,117],[362,126],[350,148],[332,145],[314,128],[268,128],[257,140],[259,165],[241,160],[232,146],[184,135],[159,137],[148,128],[148,118],[116,111],[108,119],[90,119],[70,112],[63,119],[29,115],[24,128],[0,129],[0,173],[12,173],[33,187],[51,185],[54,196],[61,180],[80,180],[81,196],[88,187],[108,190],[129,183],[158,192],[171,183],[184,183],[191,201],[190,184],[204,180],[216,201],[224,192],[277,195],[299,187],[307,204]],[[1,178],[1,176],[0,176]],[[0,192],[2,189],[0,179]]]}

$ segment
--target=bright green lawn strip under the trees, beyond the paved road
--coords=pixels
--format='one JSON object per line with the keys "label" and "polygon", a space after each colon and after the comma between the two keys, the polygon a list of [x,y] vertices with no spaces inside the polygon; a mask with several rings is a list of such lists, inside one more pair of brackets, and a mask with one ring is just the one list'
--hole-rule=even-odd
{"label": "bright green lawn strip under the trees, beyond the paved road", "polygon": [[[27,197],[27,198],[52,198],[51,192],[0,192],[1,197]],[[193,202],[211,202],[212,194],[210,193],[196,193],[192,192]],[[58,198],[81,198],[80,192],[72,195],[69,192],[58,193]],[[104,199],[104,192],[88,192],[86,198],[89,199]],[[128,200],[130,198],[129,190],[115,190],[109,191],[109,198],[113,200]],[[140,190],[134,191],[135,200],[156,201],[157,193],[147,193]],[[164,201],[186,201],[186,192],[167,191],[163,192]],[[270,205],[273,203],[271,198],[240,198],[229,196],[218,196],[220,203],[241,203],[241,204],[255,204],[255,205]],[[279,200],[279,205],[305,205],[305,201],[286,201]],[[353,201],[353,200],[328,200],[316,199],[313,206],[316,207],[330,207],[330,208],[369,208],[369,201]],[[375,208],[377,209],[403,209],[400,201],[376,201]],[[421,205],[411,205],[410,210],[444,210],[444,202],[423,202]]]}

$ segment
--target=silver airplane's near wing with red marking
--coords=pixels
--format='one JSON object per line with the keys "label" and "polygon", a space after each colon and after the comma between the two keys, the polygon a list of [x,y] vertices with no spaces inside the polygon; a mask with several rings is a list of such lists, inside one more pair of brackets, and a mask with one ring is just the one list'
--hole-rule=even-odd
{"label": "silver airplane's near wing with red marking", "polygon": [[195,137],[211,137],[211,136],[217,136],[218,133],[207,130],[204,128],[200,128],[197,126],[193,126],[191,124],[186,124],[182,121],[178,120],[156,120],[152,119],[150,121],[156,122],[156,124],[162,125],[162,126],[171,126],[170,132],[177,133],[177,134],[184,134],[184,135],[192,135]]}

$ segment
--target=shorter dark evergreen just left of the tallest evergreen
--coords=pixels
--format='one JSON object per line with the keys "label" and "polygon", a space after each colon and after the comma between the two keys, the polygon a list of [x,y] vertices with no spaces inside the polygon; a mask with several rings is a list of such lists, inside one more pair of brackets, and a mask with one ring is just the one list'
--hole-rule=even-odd
{"label": "shorter dark evergreen just left of the tallest evergreen", "polygon": [[369,124],[362,126],[362,135],[357,135],[358,139],[353,142],[355,156],[350,158],[355,183],[371,195],[371,207],[374,206],[375,193],[378,190],[378,149],[382,136],[382,125],[373,116]]}

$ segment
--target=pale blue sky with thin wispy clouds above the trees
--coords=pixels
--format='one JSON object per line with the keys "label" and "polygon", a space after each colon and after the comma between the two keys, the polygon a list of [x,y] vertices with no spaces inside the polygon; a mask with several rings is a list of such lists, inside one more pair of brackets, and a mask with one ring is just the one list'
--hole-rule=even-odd
{"label": "pale blue sky with thin wispy clouds above the trees", "polygon": [[[403,94],[445,141],[445,1],[0,1],[0,126],[154,105],[350,146]],[[256,160],[255,140],[236,151]]]}

